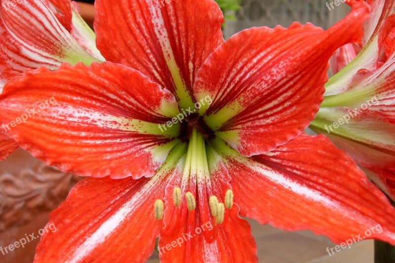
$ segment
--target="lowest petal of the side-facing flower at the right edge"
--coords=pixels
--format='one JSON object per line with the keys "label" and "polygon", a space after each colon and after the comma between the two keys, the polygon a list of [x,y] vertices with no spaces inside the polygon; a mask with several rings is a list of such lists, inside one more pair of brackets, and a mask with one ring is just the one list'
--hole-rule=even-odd
{"label": "lowest petal of the side-facing flower at the right edge", "polygon": [[[395,167],[395,125],[389,124],[381,115],[369,111],[358,114],[360,115],[347,121],[348,124],[334,129],[333,124],[330,123],[345,120],[340,116],[346,116],[346,112],[341,108],[321,109],[311,129],[325,134],[340,149],[347,152],[358,165],[362,166],[366,175],[395,200],[395,191],[391,183],[394,181],[394,176],[391,176],[393,172],[385,172]],[[332,115],[332,118],[326,119],[325,115],[326,117]],[[316,126],[316,124],[320,125]],[[388,180],[386,175],[389,175]]]}

